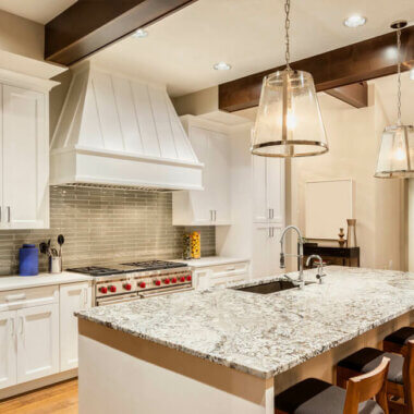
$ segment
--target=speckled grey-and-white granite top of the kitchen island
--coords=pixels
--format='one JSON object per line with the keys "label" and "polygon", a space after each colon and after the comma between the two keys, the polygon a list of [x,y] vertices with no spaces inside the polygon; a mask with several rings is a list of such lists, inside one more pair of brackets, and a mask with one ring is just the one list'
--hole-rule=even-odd
{"label": "speckled grey-and-white granite top of the kitchen island", "polygon": [[[315,272],[306,271],[306,278],[315,280]],[[414,309],[414,273],[343,267],[328,267],[326,273],[324,284],[303,290],[260,295],[216,288],[77,316],[270,378]]]}

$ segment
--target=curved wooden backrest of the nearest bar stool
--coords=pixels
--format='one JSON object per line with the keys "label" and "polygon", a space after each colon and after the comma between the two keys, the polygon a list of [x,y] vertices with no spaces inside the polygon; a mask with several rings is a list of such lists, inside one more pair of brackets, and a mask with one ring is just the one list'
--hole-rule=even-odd
{"label": "curved wooden backrest of the nearest bar stool", "polygon": [[357,414],[358,404],[374,397],[385,414],[388,414],[387,376],[389,366],[390,360],[383,357],[372,372],[349,379],[343,414]]}

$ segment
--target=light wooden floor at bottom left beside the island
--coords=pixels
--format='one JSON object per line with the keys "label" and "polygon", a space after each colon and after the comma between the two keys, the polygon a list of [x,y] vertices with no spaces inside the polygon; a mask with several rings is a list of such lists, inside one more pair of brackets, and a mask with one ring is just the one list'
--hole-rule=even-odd
{"label": "light wooden floor at bottom left beside the island", "polygon": [[77,379],[0,402],[1,414],[77,414]]}

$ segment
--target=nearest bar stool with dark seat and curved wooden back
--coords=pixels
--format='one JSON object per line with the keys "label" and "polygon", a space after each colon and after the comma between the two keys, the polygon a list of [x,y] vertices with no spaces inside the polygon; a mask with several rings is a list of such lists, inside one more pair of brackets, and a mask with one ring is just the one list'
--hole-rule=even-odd
{"label": "nearest bar stool with dark seat and curved wooden back", "polygon": [[[308,378],[275,397],[276,414],[388,414],[387,375],[383,357],[372,372],[349,379],[346,391]],[[376,398],[376,401],[372,400]]]}

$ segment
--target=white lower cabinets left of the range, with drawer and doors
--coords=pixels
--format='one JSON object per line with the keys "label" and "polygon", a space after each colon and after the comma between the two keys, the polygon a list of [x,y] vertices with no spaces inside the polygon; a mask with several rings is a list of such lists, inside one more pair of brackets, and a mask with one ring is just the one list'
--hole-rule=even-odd
{"label": "white lower cabinets left of the range, with drawer and doors", "polygon": [[77,367],[77,318],[88,282],[0,292],[0,389]]}

